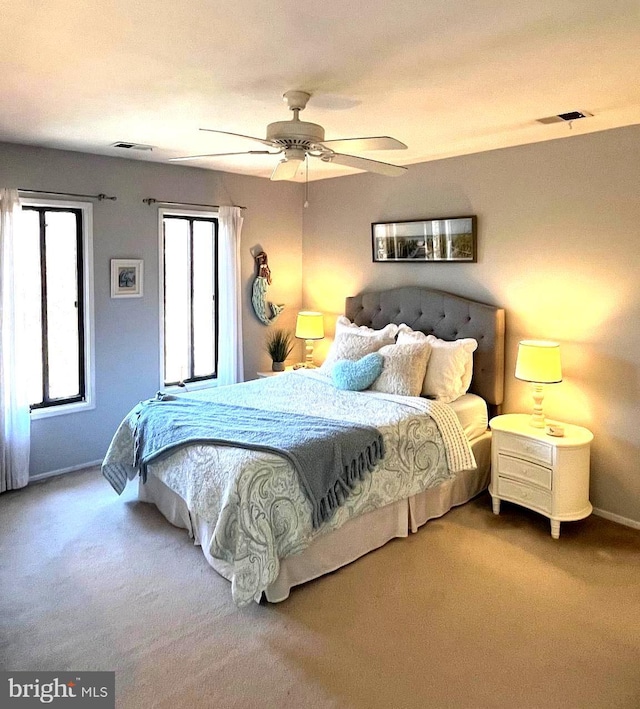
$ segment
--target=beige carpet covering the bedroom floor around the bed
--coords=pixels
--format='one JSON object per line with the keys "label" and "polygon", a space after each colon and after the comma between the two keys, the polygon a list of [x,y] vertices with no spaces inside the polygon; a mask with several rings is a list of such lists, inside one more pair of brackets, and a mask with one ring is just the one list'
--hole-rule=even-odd
{"label": "beige carpet covering the bedroom floor around the bed", "polygon": [[0,664],[115,670],[139,707],[640,707],[640,532],[487,495],[238,610],[97,470],[0,496]]}

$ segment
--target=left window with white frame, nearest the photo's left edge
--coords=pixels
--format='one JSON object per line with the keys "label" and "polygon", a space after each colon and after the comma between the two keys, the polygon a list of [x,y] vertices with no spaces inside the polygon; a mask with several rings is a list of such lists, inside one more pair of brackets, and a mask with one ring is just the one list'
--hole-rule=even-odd
{"label": "left window with white frame, nearest the photo's left edge", "polygon": [[93,406],[91,207],[22,200],[29,402],[41,416]]}

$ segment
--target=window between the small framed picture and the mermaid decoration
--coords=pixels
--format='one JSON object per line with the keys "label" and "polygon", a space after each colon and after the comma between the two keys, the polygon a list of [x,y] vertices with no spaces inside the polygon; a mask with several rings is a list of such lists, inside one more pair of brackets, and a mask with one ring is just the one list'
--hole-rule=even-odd
{"label": "window between the small framed picture and the mermaid decoration", "polygon": [[218,220],[160,216],[163,383],[211,382],[218,363]]}

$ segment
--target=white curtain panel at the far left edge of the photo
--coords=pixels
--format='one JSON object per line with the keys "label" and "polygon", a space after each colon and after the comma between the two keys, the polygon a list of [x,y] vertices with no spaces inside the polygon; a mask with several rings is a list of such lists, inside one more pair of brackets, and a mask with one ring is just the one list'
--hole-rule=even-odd
{"label": "white curtain panel at the far left edge of the photo", "polygon": [[0,492],[29,482],[24,270],[17,241],[20,213],[18,191],[0,188]]}

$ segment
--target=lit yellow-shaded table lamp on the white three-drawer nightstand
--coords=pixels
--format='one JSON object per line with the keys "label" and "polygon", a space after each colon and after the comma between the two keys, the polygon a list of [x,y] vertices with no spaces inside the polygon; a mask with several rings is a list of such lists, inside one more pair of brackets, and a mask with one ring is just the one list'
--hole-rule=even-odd
{"label": "lit yellow-shaded table lamp on the white three-drawer nightstand", "polygon": [[560,345],[546,340],[522,340],[518,344],[516,379],[531,382],[534,405],[529,423],[536,428],[544,428],[544,385],[562,381]]}

